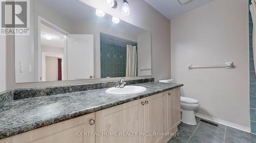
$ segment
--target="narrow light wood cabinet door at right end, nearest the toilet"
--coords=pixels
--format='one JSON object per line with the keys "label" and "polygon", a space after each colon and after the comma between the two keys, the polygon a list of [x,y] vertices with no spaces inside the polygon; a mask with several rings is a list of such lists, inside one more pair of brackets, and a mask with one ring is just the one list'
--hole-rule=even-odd
{"label": "narrow light wood cabinet door at right end, nearest the toilet", "polygon": [[168,132],[180,124],[180,88],[167,92]]}

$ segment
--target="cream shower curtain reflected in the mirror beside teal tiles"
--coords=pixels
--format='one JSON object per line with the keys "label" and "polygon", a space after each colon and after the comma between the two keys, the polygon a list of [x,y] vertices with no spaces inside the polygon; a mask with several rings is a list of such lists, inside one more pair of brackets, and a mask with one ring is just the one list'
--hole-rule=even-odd
{"label": "cream shower curtain reflected in the mirror beside teal tiles", "polygon": [[137,47],[126,45],[126,77],[136,76],[137,73]]}

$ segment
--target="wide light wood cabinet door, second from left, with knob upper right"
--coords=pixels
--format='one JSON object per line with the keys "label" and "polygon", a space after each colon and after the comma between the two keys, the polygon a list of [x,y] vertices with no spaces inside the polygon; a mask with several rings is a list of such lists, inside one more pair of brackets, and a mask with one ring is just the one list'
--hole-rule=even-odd
{"label": "wide light wood cabinet door, second from left, with knob upper right", "polygon": [[[135,100],[129,103],[121,104],[115,107],[96,112],[96,132],[117,133],[117,135],[96,136],[97,143],[142,143],[143,136],[143,99]],[[137,132],[120,136],[120,132]]]}

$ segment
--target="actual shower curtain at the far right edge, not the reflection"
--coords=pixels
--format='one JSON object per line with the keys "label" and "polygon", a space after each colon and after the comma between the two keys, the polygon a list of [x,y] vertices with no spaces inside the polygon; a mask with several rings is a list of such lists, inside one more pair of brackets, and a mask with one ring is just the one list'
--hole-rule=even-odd
{"label": "actual shower curtain at the far right edge, not the reflection", "polygon": [[[254,59],[254,68],[256,71],[256,0],[251,1],[250,5],[251,18],[253,23],[253,32],[252,32],[252,49],[253,49],[253,59]],[[255,72],[256,74],[256,72]]]}

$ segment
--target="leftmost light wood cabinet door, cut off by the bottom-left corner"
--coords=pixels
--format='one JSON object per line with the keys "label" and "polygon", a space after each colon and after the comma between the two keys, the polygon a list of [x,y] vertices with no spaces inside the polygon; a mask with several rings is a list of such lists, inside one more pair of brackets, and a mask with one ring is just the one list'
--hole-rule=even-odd
{"label": "leftmost light wood cabinet door, cut off by the bottom-left corner", "polygon": [[95,136],[81,133],[95,131],[91,119],[95,120],[94,113],[2,139],[0,143],[94,143]]}

